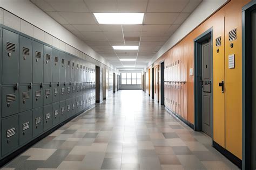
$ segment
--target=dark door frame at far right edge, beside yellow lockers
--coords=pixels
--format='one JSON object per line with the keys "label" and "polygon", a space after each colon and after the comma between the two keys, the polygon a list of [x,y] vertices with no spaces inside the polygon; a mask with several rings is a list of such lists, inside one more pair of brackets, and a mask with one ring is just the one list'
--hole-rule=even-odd
{"label": "dark door frame at far right edge, beside yellow lockers", "polygon": [[242,169],[251,169],[251,12],[256,1],[242,7]]}

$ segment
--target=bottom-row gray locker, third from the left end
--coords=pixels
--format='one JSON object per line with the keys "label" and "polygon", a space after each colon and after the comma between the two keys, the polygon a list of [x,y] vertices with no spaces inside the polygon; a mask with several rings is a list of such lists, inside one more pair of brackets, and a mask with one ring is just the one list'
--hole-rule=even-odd
{"label": "bottom-row gray locker, third from the left end", "polygon": [[32,119],[33,119],[33,137],[36,137],[44,131],[43,107],[33,109]]}

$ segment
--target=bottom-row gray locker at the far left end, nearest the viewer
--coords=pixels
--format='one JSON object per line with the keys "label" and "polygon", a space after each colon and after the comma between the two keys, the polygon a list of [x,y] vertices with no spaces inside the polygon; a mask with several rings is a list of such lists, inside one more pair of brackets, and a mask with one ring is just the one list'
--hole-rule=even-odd
{"label": "bottom-row gray locker at the far left end, nearest the viewer", "polygon": [[18,115],[2,119],[2,156],[12,152],[19,145]]}

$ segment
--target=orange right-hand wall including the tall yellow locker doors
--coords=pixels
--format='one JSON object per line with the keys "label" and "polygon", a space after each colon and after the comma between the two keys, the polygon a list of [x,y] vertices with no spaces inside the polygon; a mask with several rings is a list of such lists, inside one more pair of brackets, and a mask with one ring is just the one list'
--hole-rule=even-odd
{"label": "orange right-hand wall including the tall yellow locker doors", "polygon": [[[186,81],[183,87],[184,102],[181,102],[184,110],[181,109],[181,112],[184,119],[194,124],[194,76],[189,75],[190,68],[194,70],[194,39],[213,27],[213,139],[240,159],[242,147],[241,8],[248,2],[250,1],[231,0],[154,62],[156,66],[163,60],[165,65],[172,63],[173,59],[180,60],[181,73],[175,76],[178,81]],[[228,32],[234,28],[237,28],[237,40],[232,41],[234,48],[231,48]],[[217,47],[214,46],[215,38],[219,36],[222,40],[217,53]],[[228,69],[230,54],[235,54],[234,69]],[[166,77],[167,75],[165,79]],[[225,94],[221,94],[220,87],[216,85],[221,80],[225,80]]]}

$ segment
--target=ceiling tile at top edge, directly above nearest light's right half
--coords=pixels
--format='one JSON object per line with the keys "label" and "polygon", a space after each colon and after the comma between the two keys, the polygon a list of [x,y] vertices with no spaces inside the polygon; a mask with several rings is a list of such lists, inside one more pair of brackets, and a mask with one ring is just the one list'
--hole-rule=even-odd
{"label": "ceiling tile at top edge, directly above nearest light's right half", "polygon": [[117,0],[119,12],[145,12],[147,0]]}

